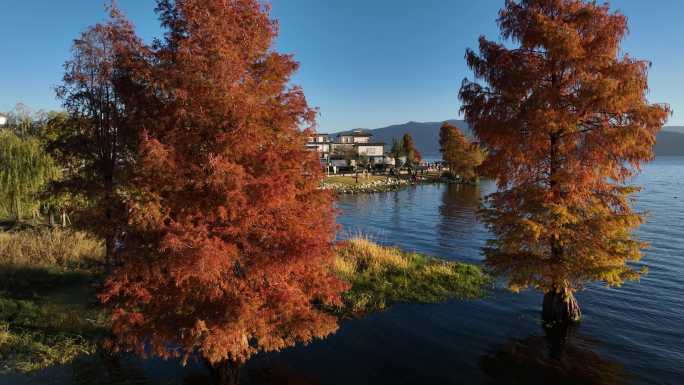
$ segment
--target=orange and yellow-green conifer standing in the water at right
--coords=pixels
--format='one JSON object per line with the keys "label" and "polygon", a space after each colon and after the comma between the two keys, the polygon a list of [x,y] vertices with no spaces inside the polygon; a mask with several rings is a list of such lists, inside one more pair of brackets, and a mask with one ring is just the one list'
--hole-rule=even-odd
{"label": "orange and yellow-green conifer standing in the water at right", "polygon": [[498,24],[511,44],[481,37],[466,58],[483,84],[460,91],[498,183],[486,264],[514,290],[543,291],[545,320],[578,320],[573,293],[587,281],[639,278],[628,181],[653,157],[669,107],[647,101],[648,63],[621,53],[627,19],[608,5],[507,1]]}

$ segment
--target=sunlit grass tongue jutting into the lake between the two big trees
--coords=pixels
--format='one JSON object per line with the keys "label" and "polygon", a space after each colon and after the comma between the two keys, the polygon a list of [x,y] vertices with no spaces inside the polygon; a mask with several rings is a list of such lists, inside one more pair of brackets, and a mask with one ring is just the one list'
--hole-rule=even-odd
{"label": "sunlit grass tongue jutting into the lake between the two big trees", "polygon": [[392,303],[438,303],[486,295],[492,280],[475,265],[380,246],[357,237],[337,248],[335,271],[351,283],[345,315],[363,315]]}

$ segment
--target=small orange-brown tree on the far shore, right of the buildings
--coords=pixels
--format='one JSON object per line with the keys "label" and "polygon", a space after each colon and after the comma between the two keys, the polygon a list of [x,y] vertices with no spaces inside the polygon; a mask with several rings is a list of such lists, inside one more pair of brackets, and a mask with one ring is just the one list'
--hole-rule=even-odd
{"label": "small orange-brown tree on the far shore, right of the buildings", "polygon": [[484,160],[484,152],[476,143],[471,143],[458,127],[444,122],[439,129],[439,150],[449,172],[464,180],[477,178],[476,168]]}

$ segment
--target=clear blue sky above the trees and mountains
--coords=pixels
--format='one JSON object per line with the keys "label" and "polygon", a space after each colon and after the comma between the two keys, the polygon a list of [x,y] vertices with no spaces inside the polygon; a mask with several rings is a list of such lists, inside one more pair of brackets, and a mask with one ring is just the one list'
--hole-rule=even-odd
{"label": "clear blue sky above the trees and mountains", "polygon": [[[498,39],[503,0],[273,0],[277,49],[301,62],[294,78],[320,108],[321,131],[458,118],[463,55],[479,35]],[[150,40],[153,0],[118,0]],[[623,48],[651,60],[649,99],[684,125],[684,1],[614,0],[629,18]],[[71,41],[104,19],[102,0],[0,0],[0,111],[22,102],[57,109],[53,88]]]}

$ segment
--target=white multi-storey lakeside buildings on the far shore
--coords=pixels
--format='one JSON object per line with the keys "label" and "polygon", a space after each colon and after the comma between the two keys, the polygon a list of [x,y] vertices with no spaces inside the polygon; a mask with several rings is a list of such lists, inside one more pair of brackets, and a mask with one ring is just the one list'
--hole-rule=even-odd
{"label": "white multi-storey lakeside buildings on the far shore", "polygon": [[385,154],[384,142],[373,142],[373,134],[356,129],[336,135],[316,133],[309,136],[306,147],[316,151],[323,165],[354,166],[361,157],[370,164],[393,164],[394,159]]}

